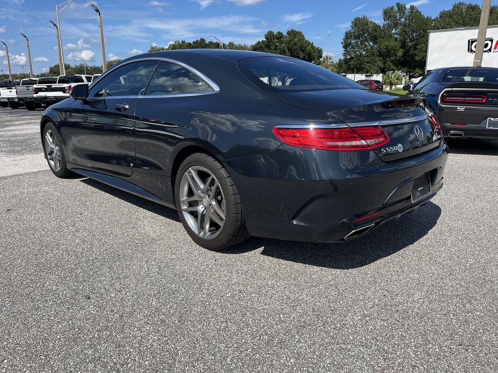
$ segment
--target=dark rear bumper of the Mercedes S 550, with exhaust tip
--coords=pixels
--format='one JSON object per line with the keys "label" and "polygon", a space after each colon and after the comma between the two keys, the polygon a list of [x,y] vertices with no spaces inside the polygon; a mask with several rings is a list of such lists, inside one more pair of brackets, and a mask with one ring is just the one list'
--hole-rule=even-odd
{"label": "dark rear bumper of the Mercedes S 550, with exhaust tip", "polygon": [[[344,162],[344,157],[354,160],[352,153],[356,152],[348,155],[344,154],[348,152],[298,149],[297,152],[309,153],[309,159],[315,160],[309,167],[318,170],[317,176],[325,172],[329,175],[327,179],[291,179],[299,177],[299,165],[289,164],[292,159],[288,155],[287,164],[283,164],[278,152],[284,148],[290,147],[283,145],[261,156],[225,162],[239,190],[246,225],[253,236],[308,242],[340,242],[359,237],[427,203],[443,186],[448,156],[448,149],[442,144],[419,156],[356,168]],[[343,157],[339,156],[343,162],[327,163],[321,156],[332,156],[324,152],[343,153]],[[298,158],[303,162],[306,157]],[[249,170],[258,170],[261,166],[269,171],[266,175],[251,175]],[[271,169],[281,171],[282,168],[287,168],[285,174],[289,179],[271,177]],[[413,180],[426,173],[431,177],[432,191],[424,199],[413,202]],[[332,178],[332,174],[340,177]],[[378,211],[374,218],[358,221]],[[362,232],[365,227],[369,228]],[[355,230],[360,231],[351,236]]]}

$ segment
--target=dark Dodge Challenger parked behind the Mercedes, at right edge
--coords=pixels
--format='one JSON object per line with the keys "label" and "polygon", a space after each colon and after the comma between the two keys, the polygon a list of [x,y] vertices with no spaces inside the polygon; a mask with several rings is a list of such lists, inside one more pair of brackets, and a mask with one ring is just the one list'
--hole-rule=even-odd
{"label": "dark Dodge Challenger parked behind the Mercedes, at right edge", "polygon": [[435,69],[403,90],[426,100],[444,137],[498,140],[498,69]]}

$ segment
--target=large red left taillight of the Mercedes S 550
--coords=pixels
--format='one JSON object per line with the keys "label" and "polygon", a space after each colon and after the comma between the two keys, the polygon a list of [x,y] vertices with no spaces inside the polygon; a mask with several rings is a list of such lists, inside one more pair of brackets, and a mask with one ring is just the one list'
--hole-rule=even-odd
{"label": "large red left taillight of the Mercedes S 550", "polygon": [[283,143],[300,148],[320,150],[366,150],[389,142],[389,136],[380,126],[341,128],[281,128],[273,133]]}

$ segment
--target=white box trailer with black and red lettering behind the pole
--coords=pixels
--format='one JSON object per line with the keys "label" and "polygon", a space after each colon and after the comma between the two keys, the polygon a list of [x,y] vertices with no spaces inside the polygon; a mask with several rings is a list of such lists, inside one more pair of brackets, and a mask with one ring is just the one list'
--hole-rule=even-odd
{"label": "white box trailer with black and red lettering behind the pole", "polygon": [[[425,71],[440,67],[472,66],[479,27],[429,31]],[[483,65],[498,67],[498,26],[488,26]]]}

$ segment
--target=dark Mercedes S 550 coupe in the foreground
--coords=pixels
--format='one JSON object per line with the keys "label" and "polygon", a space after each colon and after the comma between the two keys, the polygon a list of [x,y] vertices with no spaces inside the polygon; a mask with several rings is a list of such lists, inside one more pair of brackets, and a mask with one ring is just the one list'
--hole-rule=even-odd
{"label": "dark Mercedes S 550 coupe in the foreground", "polygon": [[124,60],[47,108],[40,129],[57,177],[176,208],[211,250],[362,236],[427,203],[448,153],[423,99],[236,50]]}

